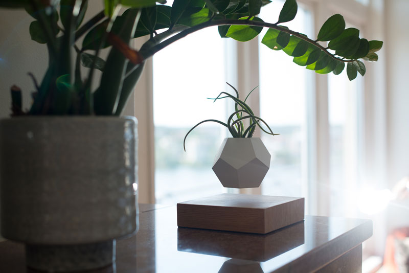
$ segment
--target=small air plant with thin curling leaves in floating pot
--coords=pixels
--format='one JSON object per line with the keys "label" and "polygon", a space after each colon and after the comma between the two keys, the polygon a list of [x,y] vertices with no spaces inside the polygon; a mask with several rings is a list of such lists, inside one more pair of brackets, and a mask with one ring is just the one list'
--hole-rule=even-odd
{"label": "small air plant with thin curling leaves in floating pot", "polygon": [[[219,120],[203,120],[199,122],[198,124],[196,124],[195,126],[193,126],[187,132],[187,134],[185,135],[185,139],[183,140],[183,148],[185,149],[185,151],[186,151],[185,142],[186,142],[186,138],[188,137],[189,133],[193,131],[194,128],[196,128],[197,126],[205,122],[216,122],[216,123],[219,123],[225,126],[226,128],[228,128],[233,138],[251,138],[253,137],[256,127],[259,127],[265,133],[268,133],[271,135],[278,135],[278,133],[272,132],[271,128],[268,126],[268,124],[264,120],[255,116],[253,110],[246,104],[248,96],[250,96],[258,86],[253,88],[253,90],[251,90],[247,94],[244,101],[242,101],[239,98],[239,92],[237,91],[237,89],[230,83],[228,82],[226,83],[230,87],[233,88],[234,92],[236,93],[236,96],[233,96],[227,92],[221,92],[216,98],[210,99],[210,100],[213,100],[215,102],[220,99],[232,99],[234,101],[234,112],[229,116],[226,123],[219,121]],[[249,121],[248,126],[244,124],[243,122],[244,120]],[[267,129],[264,129],[260,123],[264,124]]]}

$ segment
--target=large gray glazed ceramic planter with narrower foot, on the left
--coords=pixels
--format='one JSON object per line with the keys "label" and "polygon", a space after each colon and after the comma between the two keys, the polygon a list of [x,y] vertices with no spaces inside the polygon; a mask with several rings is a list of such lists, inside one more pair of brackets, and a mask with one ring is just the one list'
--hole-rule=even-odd
{"label": "large gray glazed ceramic planter with narrower foot, on the left", "polygon": [[46,271],[103,267],[137,230],[137,120],[22,117],[0,121],[2,236]]}

